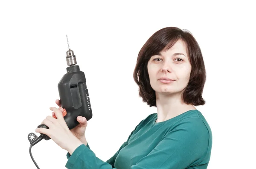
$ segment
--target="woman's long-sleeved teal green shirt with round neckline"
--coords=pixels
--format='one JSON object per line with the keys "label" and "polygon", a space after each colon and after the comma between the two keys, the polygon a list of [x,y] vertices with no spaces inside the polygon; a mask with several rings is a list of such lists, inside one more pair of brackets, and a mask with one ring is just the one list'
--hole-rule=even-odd
{"label": "woman's long-sleeved teal green shirt with round neckline", "polygon": [[67,169],[207,169],[212,132],[198,110],[156,123],[157,113],[140,121],[119,150],[102,161],[87,144],[70,156]]}

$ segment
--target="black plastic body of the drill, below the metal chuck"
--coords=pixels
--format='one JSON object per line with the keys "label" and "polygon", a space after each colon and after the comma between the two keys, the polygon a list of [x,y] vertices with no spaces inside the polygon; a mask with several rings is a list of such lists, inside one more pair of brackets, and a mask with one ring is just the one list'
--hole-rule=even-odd
{"label": "black plastic body of the drill, below the metal chuck", "polygon": [[86,79],[84,72],[79,69],[79,65],[67,67],[67,73],[58,83],[58,92],[61,107],[67,111],[64,119],[70,130],[79,124],[76,120],[77,116],[81,115],[87,121],[92,118]]}

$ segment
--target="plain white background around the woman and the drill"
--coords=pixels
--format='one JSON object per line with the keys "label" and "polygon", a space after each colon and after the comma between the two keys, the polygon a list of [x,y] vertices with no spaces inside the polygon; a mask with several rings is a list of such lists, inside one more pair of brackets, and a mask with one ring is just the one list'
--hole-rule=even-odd
{"label": "plain white background around the woman and the drill", "polygon": [[[256,12],[249,2],[1,1],[0,168],[36,168],[27,135],[57,107],[66,34],[90,94],[87,141],[97,157],[111,158],[157,113],[138,97],[133,71],[146,40],[169,26],[189,30],[203,53],[207,103],[197,109],[212,129],[208,169],[255,167]],[[64,169],[66,153],[52,140],[32,147],[40,169]]]}

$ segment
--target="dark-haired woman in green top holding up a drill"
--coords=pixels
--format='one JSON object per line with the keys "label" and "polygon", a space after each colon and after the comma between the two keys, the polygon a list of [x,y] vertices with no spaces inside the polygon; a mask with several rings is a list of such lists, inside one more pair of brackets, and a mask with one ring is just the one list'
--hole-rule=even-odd
{"label": "dark-haired woman in green top holding up a drill", "polygon": [[37,128],[66,149],[68,169],[206,169],[212,148],[212,132],[195,106],[202,98],[206,70],[200,47],[192,34],[176,27],[155,32],[141,48],[134,80],[139,96],[157,113],[135,127],[119,150],[102,161],[85,138],[87,121],[69,130],[63,108],[50,107],[57,119],[47,116]]}

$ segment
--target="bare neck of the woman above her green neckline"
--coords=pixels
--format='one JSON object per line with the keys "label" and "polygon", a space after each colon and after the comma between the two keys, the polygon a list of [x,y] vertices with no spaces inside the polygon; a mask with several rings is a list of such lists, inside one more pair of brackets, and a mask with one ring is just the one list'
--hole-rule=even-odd
{"label": "bare neck of the woman above her green neckline", "polygon": [[169,120],[188,110],[196,110],[191,104],[185,104],[182,100],[181,93],[157,93],[157,123]]}

